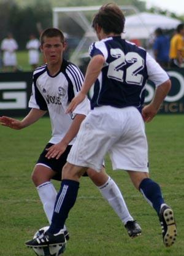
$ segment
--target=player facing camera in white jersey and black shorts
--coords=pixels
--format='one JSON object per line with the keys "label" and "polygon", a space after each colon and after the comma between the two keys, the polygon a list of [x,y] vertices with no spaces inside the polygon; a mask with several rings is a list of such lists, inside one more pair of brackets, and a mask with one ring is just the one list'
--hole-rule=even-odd
{"label": "player facing camera in white jersey and black shorts", "polygon": [[[83,75],[77,66],[63,59],[66,44],[61,31],[55,28],[46,29],[40,36],[40,44],[47,64],[34,71],[33,92],[29,101],[31,111],[21,121],[0,117],[0,122],[2,125],[20,130],[39,120],[47,111],[49,112],[52,138],[41,153],[32,178],[48,222],[51,223],[57,193],[50,179],[61,180],[61,170],[66,163],[80,123],[90,111],[90,103],[85,97],[72,115],[65,114],[68,104],[80,91]],[[88,169],[87,173],[117,212],[129,236],[140,235],[141,228],[129,214],[119,188],[105,174],[104,168],[100,174],[93,169]]]}

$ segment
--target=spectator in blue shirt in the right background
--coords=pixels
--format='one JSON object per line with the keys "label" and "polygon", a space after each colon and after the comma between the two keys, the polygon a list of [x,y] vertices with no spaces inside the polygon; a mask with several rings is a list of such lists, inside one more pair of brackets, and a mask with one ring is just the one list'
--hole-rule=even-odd
{"label": "spectator in blue shirt in the right background", "polygon": [[153,53],[155,60],[162,68],[169,66],[169,37],[163,33],[163,29],[157,28],[155,30],[155,41],[153,42]]}

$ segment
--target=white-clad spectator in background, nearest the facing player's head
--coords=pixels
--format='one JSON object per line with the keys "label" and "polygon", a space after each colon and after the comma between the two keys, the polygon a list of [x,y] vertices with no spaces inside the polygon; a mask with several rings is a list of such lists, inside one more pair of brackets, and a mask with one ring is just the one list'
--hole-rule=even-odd
{"label": "white-clad spectator in background, nearest the facing player's head", "polygon": [[39,40],[34,34],[31,34],[29,36],[29,41],[26,44],[26,48],[29,50],[29,64],[33,70],[39,66],[39,47]]}

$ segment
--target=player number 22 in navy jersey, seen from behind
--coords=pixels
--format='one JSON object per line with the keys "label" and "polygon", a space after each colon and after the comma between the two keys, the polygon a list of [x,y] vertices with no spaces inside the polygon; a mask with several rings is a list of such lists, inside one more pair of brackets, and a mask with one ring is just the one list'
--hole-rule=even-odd
{"label": "player number 22 in navy jersey, seen from behind", "polygon": [[[171,88],[171,81],[144,49],[121,39],[124,25],[125,17],[116,4],[105,4],[94,16],[93,28],[99,42],[90,47],[92,59],[85,81],[80,93],[72,99],[67,113],[75,112],[94,83],[93,111],[80,126],[63,168],[52,224],[44,236],[26,242],[28,246],[42,247],[62,241],[63,225],[74,206],[80,177],[86,168],[93,168],[99,173],[107,152],[113,169],[126,170],[134,186],[157,212],[163,228],[164,245],[171,246],[175,242],[174,213],[164,202],[161,188],[148,174],[144,127],[144,121],[150,122],[158,112]],[[156,90],[151,103],[142,109],[147,79],[155,83]]]}

